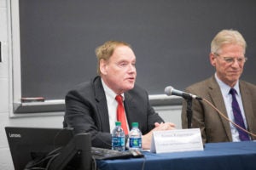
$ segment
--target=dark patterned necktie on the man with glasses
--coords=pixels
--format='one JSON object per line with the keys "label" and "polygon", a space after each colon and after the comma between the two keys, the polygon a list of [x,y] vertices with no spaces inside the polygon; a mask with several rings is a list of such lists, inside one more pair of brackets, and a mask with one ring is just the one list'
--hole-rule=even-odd
{"label": "dark patterned necktie on the man with glasses", "polygon": [[[236,100],[236,90],[234,88],[230,88],[230,94],[232,95],[232,110],[235,118],[235,122],[237,125],[240,127],[246,129],[242,116],[241,116],[241,110],[239,108],[239,105]],[[249,136],[246,132],[242,131],[240,128],[236,127],[238,133],[239,133],[239,138],[241,141],[243,140],[250,140]]]}

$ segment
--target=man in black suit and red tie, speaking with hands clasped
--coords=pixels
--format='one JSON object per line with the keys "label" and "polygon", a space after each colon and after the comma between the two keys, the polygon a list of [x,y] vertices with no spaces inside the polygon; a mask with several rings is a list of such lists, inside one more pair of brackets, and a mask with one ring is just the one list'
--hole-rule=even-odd
{"label": "man in black suit and red tie, speaking with hands clasped", "polygon": [[143,133],[143,149],[149,149],[154,130],[173,129],[155,113],[148,102],[148,93],[135,85],[136,56],[130,44],[109,41],[96,48],[98,77],[79,84],[66,96],[64,127],[73,127],[76,133],[90,133],[92,146],[111,148],[111,132],[117,121],[115,96],[124,98],[128,129],[138,122]]}

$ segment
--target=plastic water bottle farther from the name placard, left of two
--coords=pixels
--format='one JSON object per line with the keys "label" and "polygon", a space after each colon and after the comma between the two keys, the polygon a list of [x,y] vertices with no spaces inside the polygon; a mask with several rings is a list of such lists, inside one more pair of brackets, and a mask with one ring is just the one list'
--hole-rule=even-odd
{"label": "plastic water bottle farther from the name placard, left of two", "polygon": [[121,127],[121,122],[115,122],[112,133],[112,150],[125,150],[125,133]]}

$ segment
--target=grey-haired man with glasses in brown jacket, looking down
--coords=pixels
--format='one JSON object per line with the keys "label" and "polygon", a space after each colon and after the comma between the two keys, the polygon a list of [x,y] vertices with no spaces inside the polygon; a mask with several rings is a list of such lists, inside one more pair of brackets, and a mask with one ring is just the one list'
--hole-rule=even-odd
{"label": "grey-haired man with glasses in brown jacket, looking down", "polygon": [[[215,67],[215,75],[186,88],[212,103],[230,121],[236,122],[233,114],[230,88],[236,89],[236,99],[241,110],[245,129],[253,134],[249,139],[256,139],[256,86],[239,80],[245,57],[246,42],[238,31],[223,30],[218,32],[211,44],[210,61]],[[186,115],[187,102],[183,101],[182,126],[188,127]],[[239,129],[218,114],[205,101],[192,102],[192,127],[200,127],[204,143],[241,141]]]}

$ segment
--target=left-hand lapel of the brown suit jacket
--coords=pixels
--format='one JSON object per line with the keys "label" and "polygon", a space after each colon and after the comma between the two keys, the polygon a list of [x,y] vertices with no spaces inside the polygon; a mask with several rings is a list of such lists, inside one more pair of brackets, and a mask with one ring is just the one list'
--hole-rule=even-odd
{"label": "left-hand lapel of the brown suit jacket", "polygon": [[[224,116],[228,117],[227,110],[224,105],[224,99],[221,94],[221,90],[218,86],[218,83],[215,80],[215,77],[212,77],[212,79],[209,83],[209,88],[212,89],[209,91],[209,95],[212,97],[213,105],[215,105],[215,107],[219,111],[221,111],[224,114]],[[216,114],[218,114],[218,113],[216,113]],[[219,114],[218,114],[218,116],[219,116],[221,122],[223,123],[224,130],[225,130],[226,135],[228,136],[228,139],[230,141],[232,141],[232,135],[231,135],[231,131],[230,131],[230,122],[228,122],[226,119],[224,119],[223,116],[220,116]]]}

